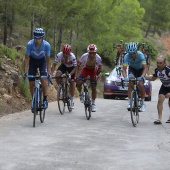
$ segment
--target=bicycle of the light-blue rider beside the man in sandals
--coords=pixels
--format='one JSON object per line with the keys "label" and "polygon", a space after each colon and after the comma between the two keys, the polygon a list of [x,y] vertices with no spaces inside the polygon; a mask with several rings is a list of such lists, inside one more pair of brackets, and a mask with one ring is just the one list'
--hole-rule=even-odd
{"label": "bicycle of the light-blue rider beside the man in sandals", "polygon": [[[144,81],[141,77],[129,79],[129,82],[133,82],[133,90],[131,92],[131,98],[130,98],[130,111],[131,114],[131,121],[134,127],[136,127],[137,123],[139,122],[139,112],[141,109],[141,98],[139,96],[139,88],[137,86],[138,81]],[[122,82],[122,88],[124,88],[124,80],[121,79]]]}

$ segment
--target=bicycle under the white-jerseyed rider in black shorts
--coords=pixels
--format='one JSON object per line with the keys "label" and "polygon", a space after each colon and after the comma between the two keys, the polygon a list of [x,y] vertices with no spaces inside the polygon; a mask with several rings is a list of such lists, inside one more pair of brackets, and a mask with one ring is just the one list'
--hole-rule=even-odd
{"label": "bicycle under the white-jerseyed rider in black shorts", "polygon": [[66,72],[61,77],[53,77],[59,78],[60,84],[57,90],[57,103],[60,113],[63,115],[65,112],[65,107],[67,106],[68,111],[71,112],[71,99],[70,99],[70,79],[69,74]]}

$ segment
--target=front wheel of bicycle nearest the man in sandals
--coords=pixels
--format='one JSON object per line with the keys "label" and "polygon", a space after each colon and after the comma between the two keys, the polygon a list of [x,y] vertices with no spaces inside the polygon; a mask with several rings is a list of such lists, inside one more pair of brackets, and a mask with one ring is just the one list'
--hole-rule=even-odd
{"label": "front wheel of bicycle nearest the man in sandals", "polygon": [[137,97],[137,93],[135,91],[132,91],[132,93],[131,93],[130,114],[131,114],[132,124],[135,127],[139,121],[138,97]]}

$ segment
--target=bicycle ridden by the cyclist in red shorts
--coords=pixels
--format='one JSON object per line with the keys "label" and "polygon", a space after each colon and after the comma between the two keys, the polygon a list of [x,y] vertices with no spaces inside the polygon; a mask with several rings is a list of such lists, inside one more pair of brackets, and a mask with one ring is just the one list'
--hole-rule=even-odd
{"label": "bicycle ridden by the cyclist in red shorts", "polygon": [[90,76],[87,76],[84,78],[83,81],[83,95],[84,95],[84,109],[85,109],[85,115],[86,119],[90,120],[91,112],[92,112],[92,98],[89,93],[89,84],[87,81],[92,80]]}

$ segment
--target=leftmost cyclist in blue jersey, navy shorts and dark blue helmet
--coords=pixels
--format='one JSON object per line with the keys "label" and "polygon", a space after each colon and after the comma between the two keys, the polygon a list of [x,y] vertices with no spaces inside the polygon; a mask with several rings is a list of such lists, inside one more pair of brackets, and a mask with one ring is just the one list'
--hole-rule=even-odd
{"label": "leftmost cyclist in blue jersey, navy shorts and dark blue helmet", "polygon": [[[41,76],[50,76],[51,77],[51,69],[50,69],[50,44],[43,40],[45,32],[42,28],[36,28],[33,32],[34,39],[31,39],[27,43],[26,54],[24,58],[24,74],[26,77],[27,72],[28,75],[36,75],[38,69]],[[33,95],[35,79],[29,78],[29,86],[31,95]],[[44,108],[47,109],[47,79],[41,79],[41,84],[43,87],[43,104]],[[32,110],[33,112],[33,110]]]}

